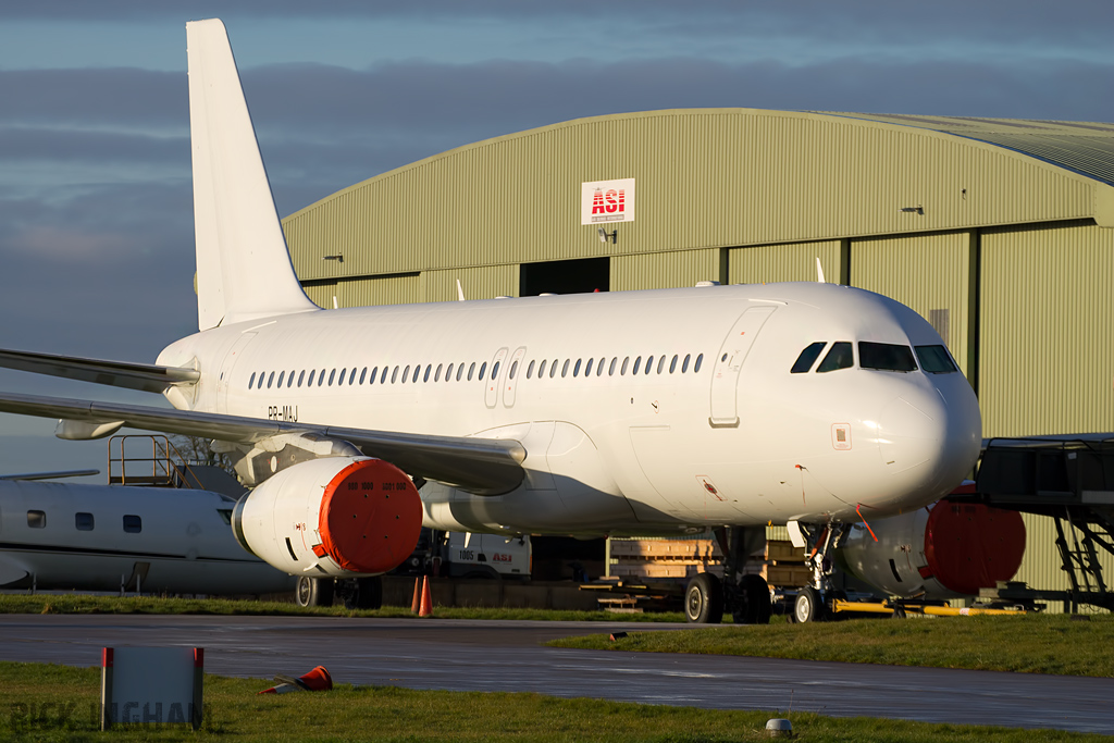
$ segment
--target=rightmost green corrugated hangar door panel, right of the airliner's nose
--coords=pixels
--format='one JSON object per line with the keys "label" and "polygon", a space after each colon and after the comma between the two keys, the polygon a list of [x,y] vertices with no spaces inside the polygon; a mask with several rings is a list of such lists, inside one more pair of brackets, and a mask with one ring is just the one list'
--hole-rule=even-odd
{"label": "rightmost green corrugated hangar door panel, right of the airliner's nose", "polygon": [[983,434],[1114,431],[1114,229],[983,235]]}

